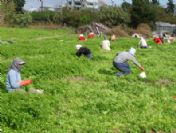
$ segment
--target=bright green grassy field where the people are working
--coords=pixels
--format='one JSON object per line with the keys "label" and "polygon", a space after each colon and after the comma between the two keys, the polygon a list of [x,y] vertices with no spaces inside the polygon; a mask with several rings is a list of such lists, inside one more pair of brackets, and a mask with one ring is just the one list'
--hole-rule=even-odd
{"label": "bright green grassy field where the people are working", "polygon": [[[111,52],[100,49],[102,38],[78,42],[72,29],[0,28],[0,129],[5,133],[176,132],[176,43],[138,49],[146,79],[132,73],[115,76],[116,52],[136,47],[138,40],[119,38]],[[75,56],[75,44],[93,52],[93,59]],[[30,78],[44,95],[7,94],[5,78],[14,57],[26,61],[22,79]]]}

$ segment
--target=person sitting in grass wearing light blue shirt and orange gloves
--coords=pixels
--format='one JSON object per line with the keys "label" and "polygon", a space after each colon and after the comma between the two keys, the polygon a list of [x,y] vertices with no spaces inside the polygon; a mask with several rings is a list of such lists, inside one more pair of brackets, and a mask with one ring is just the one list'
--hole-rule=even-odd
{"label": "person sitting in grass wearing light blue shirt and orange gloves", "polygon": [[[32,80],[21,80],[20,71],[24,64],[25,62],[20,58],[16,58],[12,61],[6,79],[6,90],[8,93],[25,92],[25,89],[22,87],[32,84]],[[27,91],[31,93],[43,93],[43,90],[33,88],[29,88]]]}

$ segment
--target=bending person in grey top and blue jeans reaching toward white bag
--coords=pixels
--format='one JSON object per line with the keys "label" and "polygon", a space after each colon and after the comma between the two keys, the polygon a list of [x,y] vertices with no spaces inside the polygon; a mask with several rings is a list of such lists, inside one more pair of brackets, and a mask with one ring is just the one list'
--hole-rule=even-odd
{"label": "bending person in grey top and blue jeans reaching toward white bag", "polygon": [[144,71],[144,68],[138,63],[135,56],[136,50],[134,48],[130,48],[128,52],[120,52],[117,53],[113,60],[113,66],[119,70],[116,74],[117,76],[123,76],[130,74],[130,66],[128,64],[128,60],[131,60],[141,71]]}

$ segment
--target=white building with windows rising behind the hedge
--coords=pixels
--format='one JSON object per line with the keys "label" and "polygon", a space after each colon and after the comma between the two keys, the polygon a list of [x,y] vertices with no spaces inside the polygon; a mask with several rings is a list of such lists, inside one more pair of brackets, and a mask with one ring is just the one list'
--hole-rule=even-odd
{"label": "white building with windows rising behind the hedge", "polygon": [[98,9],[98,0],[68,0],[66,6],[71,9]]}

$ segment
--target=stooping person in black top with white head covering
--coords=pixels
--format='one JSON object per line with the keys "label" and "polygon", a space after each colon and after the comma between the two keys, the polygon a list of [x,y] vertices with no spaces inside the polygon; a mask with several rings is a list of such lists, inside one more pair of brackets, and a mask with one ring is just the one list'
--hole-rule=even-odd
{"label": "stooping person in black top with white head covering", "polygon": [[88,49],[87,47],[83,47],[82,45],[78,44],[76,45],[76,55],[78,57],[84,55],[86,56],[88,59],[92,58],[92,53],[90,51],[90,49]]}

